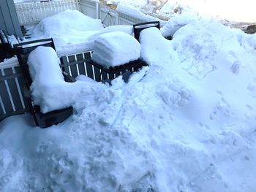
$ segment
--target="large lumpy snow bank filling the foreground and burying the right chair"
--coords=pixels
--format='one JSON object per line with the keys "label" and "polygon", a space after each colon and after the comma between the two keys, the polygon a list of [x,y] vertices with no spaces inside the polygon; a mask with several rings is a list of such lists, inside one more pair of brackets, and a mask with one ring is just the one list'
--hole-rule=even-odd
{"label": "large lumpy snow bank filling the foreground and burying the right chair", "polygon": [[83,81],[64,123],[2,121],[1,191],[255,191],[256,35],[183,21],[142,31],[127,84]]}

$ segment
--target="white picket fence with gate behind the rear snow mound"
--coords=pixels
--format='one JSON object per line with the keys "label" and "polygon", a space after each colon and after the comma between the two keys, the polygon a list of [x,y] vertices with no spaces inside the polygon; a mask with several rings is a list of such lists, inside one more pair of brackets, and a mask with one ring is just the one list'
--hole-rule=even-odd
{"label": "white picket fence with gate behind the rear snow mound", "polygon": [[[77,9],[91,18],[100,19],[105,26],[133,25],[157,18],[144,15],[140,11],[121,7],[114,10],[91,0],[54,0],[35,1],[15,4],[20,25],[39,23],[43,18],[63,12],[67,9]],[[164,21],[162,21],[164,22]]]}

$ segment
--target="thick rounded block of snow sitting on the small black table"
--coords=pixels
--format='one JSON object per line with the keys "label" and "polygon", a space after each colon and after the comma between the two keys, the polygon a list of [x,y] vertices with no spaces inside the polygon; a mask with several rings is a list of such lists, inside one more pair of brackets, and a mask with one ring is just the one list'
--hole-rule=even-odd
{"label": "thick rounded block of snow sitting on the small black table", "polygon": [[94,41],[91,59],[102,66],[119,66],[140,58],[140,43],[124,32],[102,34]]}

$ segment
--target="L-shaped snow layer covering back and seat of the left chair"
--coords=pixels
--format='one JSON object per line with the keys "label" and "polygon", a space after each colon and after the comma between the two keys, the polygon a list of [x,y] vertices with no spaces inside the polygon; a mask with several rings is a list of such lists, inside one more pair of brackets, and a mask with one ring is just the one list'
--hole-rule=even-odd
{"label": "L-shaped snow layer covering back and seat of the left chair", "polygon": [[87,87],[80,81],[64,81],[59,58],[51,47],[37,47],[29,54],[28,64],[33,80],[31,96],[43,113],[72,106]]}

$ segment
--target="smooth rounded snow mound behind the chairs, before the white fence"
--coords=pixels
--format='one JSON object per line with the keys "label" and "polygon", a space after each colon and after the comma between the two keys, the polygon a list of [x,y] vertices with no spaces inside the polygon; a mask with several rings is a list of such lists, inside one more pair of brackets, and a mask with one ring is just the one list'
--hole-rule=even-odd
{"label": "smooth rounded snow mound behind the chairs, before the white fence", "polygon": [[53,37],[56,47],[88,42],[87,38],[103,28],[101,20],[89,18],[78,10],[66,10],[42,19],[31,33],[32,39]]}

